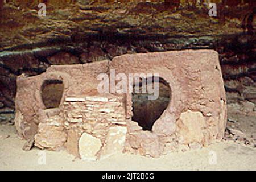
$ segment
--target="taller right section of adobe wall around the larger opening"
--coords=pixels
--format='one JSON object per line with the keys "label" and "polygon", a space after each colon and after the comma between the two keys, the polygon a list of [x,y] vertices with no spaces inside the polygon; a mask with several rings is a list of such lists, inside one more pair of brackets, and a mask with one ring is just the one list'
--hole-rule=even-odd
{"label": "taller right section of adobe wall around the larger opening", "polygon": [[[115,73],[158,73],[171,88],[171,101],[152,132],[129,122],[126,151],[159,156],[170,150],[201,147],[224,136],[226,96],[218,53],[211,50],[123,55],[113,59]],[[131,114],[131,94],[127,114]],[[131,127],[133,126],[133,127]],[[147,139],[146,139],[147,138]]]}

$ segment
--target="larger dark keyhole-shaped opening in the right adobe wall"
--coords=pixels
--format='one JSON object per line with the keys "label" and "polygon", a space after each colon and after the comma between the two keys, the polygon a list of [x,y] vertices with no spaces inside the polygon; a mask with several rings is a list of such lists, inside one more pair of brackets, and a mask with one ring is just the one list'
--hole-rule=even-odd
{"label": "larger dark keyhole-shaped opening in the right adobe wall", "polygon": [[[144,82],[146,86],[150,86],[150,88],[154,88],[155,79],[152,79],[152,87],[150,82]],[[142,127],[143,130],[152,130],[152,126],[155,121],[160,118],[163,114],[164,110],[166,110],[168,104],[171,101],[171,88],[169,84],[163,80],[163,78],[159,77],[159,97],[156,100],[148,100],[148,96],[152,96],[153,94],[148,93],[148,89],[146,93],[142,93],[143,83],[140,82],[140,93],[135,93],[135,89],[133,90],[133,117],[132,120],[138,122],[139,126]],[[135,88],[135,85],[134,85]]]}

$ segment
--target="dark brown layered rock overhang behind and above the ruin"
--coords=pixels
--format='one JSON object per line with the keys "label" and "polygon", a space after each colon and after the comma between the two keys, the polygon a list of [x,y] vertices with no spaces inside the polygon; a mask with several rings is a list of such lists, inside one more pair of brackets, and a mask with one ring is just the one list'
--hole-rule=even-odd
{"label": "dark brown layered rock overhang behind and above the ruin", "polygon": [[38,75],[52,64],[181,49],[218,51],[228,102],[256,102],[253,1],[216,1],[217,17],[212,18],[208,5],[194,1],[45,1],[45,18],[38,16],[38,3],[25,2],[0,3],[1,113],[14,111],[18,75]]}

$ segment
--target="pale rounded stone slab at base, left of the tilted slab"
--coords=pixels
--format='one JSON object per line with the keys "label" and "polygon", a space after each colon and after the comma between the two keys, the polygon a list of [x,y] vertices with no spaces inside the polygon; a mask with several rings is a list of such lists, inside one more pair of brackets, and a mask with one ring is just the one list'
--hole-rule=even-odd
{"label": "pale rounded stone slab at base, left of the tilted slab", "polygon": [[101,149],[101,140],[83,133],[79,139],[79,154],[83,160],[96,160],[97,153]]}

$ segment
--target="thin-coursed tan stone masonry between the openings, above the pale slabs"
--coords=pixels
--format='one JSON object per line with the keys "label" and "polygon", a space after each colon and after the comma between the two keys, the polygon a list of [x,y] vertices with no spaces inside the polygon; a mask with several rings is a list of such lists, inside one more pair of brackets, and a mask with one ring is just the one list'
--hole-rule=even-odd
{"label": "thin-coursed tan stone masonry between the openings, above the pale slabs", "polygon": [[126,125],[122,97],[67,97],[63,114],[67,130],[76,127],[100,138],[101,142],[111,125]]}

